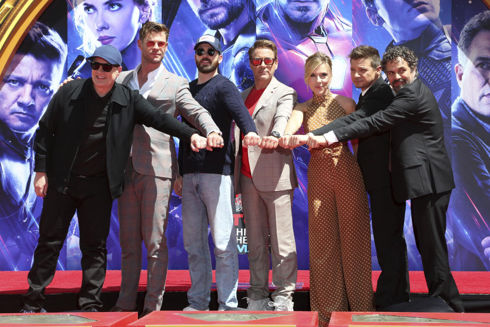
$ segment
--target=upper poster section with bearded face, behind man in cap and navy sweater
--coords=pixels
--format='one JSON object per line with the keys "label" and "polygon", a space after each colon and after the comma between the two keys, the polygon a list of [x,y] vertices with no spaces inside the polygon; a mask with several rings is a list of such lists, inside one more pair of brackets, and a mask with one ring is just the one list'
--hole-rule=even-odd
{"label": "upper poster section with bearded face, behind man in cap and navy sweater", "polygon": [[218,72],[238,89],[254,84],[248,49],[255,42],[255,1],[182,0],[171,20],[165,66],[189,81],[197,77],[193,58],[195,41],[203,34],[219,38],[223,62]]}

